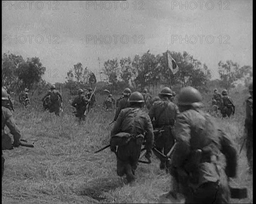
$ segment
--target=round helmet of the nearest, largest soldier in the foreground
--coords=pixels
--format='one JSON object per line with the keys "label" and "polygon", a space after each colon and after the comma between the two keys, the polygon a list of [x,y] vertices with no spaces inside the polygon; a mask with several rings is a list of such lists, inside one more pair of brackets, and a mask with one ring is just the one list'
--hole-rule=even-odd
{"label": "round helmet of the nearest, largest soldier in the foreground", "polygon": [[178,105],[187,106],[201,106],[202,105],[202,96],[201,93],[191,87],[187,86],[180,90],[180,94],[178,95]]}

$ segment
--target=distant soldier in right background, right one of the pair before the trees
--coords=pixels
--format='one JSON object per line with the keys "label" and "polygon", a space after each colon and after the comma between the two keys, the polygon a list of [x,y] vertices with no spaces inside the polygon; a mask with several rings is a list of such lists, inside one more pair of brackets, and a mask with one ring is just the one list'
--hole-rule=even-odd
{"label": "distant soldier in right background, right one of the pair before the trees", "polygon": [[230,115],[234,115],[235,114],[235,105],[233,103],[233,100],[232,98],[230,98],[229,96],[227,96],[227,90],[224,89],[222,91],[222,105],[221,105],[221,114],[222,114],[222,117],[225,118],[225,117],[230,117]]}

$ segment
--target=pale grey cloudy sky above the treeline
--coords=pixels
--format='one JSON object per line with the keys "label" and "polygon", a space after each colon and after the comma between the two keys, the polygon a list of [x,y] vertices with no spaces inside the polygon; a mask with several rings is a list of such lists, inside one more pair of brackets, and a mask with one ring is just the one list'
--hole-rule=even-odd
{"label": "pale grey cloudy sky above the treeline", "polygon": [[252,25],[250,0],[2,1],[2,53],[39,57],[55,83],[78,62],[99,80],[98,57],[186,51],[215,79],[220,60],[253,65]]}

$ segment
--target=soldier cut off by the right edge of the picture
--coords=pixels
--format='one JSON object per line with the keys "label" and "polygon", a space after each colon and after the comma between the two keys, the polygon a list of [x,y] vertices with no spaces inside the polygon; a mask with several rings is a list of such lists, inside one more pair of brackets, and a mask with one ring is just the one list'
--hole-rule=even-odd
{"label": "soldier cut off by the right edge of the picture", "polygon": [[250,97],[246,100],[246,118],[244,133],[246,135],[246,156],[249,164],[249,173],[253,172],[253,83],[248,86]]}

